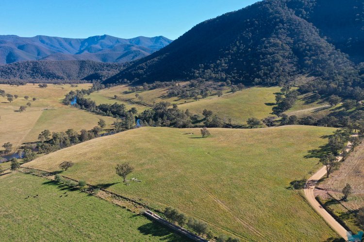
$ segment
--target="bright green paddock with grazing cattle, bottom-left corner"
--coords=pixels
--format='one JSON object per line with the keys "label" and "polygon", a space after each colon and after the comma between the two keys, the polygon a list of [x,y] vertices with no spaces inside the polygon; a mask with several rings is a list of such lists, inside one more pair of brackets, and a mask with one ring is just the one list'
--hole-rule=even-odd
{"label": "bright green paddock with grazing cattle, bottom-left corner", "polygon": [[3,175],[0,192],[0,241],[185,241],[143,216],[44,178]]}

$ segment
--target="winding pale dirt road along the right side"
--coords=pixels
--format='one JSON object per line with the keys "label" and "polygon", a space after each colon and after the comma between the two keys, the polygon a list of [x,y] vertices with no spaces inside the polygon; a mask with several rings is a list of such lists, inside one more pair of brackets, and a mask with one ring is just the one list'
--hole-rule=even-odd
{"label": "winding pale dirt road along the right side", "polygon": [[[346,151],[349,151],[351,149],[351,143],[348,142],[346,146]],[[341,155],[336,157],[337,162],[341,161],[343,157]],[[328,223],[333,230],[336,231],[341,237],[343,237],[345,240],[347,240],[347,230],[341,226],[332,216],[329,212],[327,212],[316,200],[314,197],[314,189],[316,187],[317,182],[326,175],[326,166],[322,166],[321,169],[319,169],[312,177],[310,177],[305,184],[304,192],[305,197],[308,200],[308,202],[311,204],[311,206],[314,208],[314,210],[321,215]]]}

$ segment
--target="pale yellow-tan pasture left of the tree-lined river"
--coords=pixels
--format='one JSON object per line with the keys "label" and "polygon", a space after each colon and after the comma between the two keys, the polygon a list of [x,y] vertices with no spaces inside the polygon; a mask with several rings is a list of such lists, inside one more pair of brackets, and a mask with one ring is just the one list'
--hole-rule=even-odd
{"label": "pale yellow-tan pasture left of the tree-lined river", "polygon": [[[97,125],[100,118],[110,125],[113,122],[110,117],[91,114],[61,103],[69,91],[89,87],[90,84],[79,84],[73,88],[70,85],[48,85],[46,89],[33,84],[19,87],[0,85],[0,89],[6,93],[19,96],[11,103],[6,97],[0,96],[0,144],[11,142],[17,147],[24,142],[36,141],[44,129],[51,132],[66,131],[69,128],[77,131],[91,129]],[[29,96],[29,100],[25,100],[24,96]],[[33,97],[37,100],[32,101]],[[28,102],[32,106],[27,107],[24,112],[18,112],[19,107],[26,106]]]}

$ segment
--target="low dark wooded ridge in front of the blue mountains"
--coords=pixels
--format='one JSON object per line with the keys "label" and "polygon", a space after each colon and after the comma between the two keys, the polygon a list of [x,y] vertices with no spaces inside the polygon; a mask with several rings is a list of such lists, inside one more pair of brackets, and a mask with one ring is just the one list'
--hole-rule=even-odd
{"label": "low dark wooded ridge in front of the blue mountains", "polygon": [[126,64],[96,61],[22,61],[0,65],[0,83],[5,80],[59,82],[104,80],[122,70]]}

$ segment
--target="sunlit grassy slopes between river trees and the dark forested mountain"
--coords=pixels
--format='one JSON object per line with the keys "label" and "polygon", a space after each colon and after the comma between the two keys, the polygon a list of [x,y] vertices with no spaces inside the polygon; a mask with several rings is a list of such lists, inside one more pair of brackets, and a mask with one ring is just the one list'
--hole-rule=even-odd
{"label": "sunlit grassy slopes between river trees and the dark forested mountain", "polygon": [[[191,113],[202,116],[204,109],[212,110],[220,118],[228,122],[229,118],[233,123],[243,124],[248,118],[255,117],[263,119],[267,116],[272,116],[272,107],[275,103],[275,92],[279,92],[279,87],[253,87],[236,93],[224,91],[224,95],[218,97],[208,96],[203,99],[195,101],[193,98],[180,99],[178,97],[165,98],[167,89],[160,88],[148,91],[128,92],[128,86],[121,85],[104,89],[101,91],[93,92],[87,98],[91,98],[97,104],[109,103],[113,104],[123,103],[128,109],[135,107],[139,112],[148,108],[140,104],[132,104],[130,100],[138,102],[135,94],[139,94],[143,99],[143,103],[152,106],[153,103],[169,102],[171,104],[178,104],[181,109],[189,109]],[[114,99],[114,95],[118,98]],[[129,101],[128,101],[129,100]]]}

